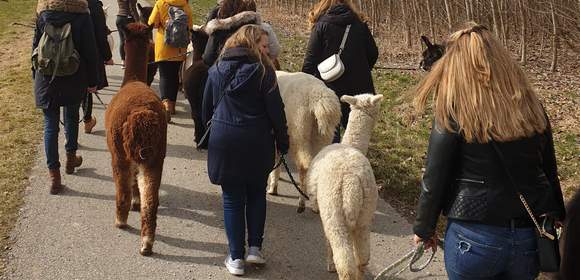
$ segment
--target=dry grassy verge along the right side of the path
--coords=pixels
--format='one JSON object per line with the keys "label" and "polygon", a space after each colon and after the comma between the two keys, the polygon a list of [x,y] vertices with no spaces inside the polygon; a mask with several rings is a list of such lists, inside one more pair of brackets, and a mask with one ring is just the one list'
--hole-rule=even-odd
{"label": "dry grassy verge along the right side of the path", "polygon": [[[308,42],[306,20],[266,8],[262,8],[261,12],[263,18],[272,21],[283,45],[280,58],[282,68],[299,71]],[[378,62],[380,65],[407,66],[418,63],[419,51],[414,58],[408,53],[387,56],[385,53],[392,51],[385,48],[384,42],[387,40],[376,40],[382,48]],[[395,50],[393,54],[398,54],[398,51]],[[567,69],[569,66],[561,67]],[[580,189],[580,111],[577,109],[580,105],[580,90],[571,84],[558,83],[564,73],[548,74],[545,69],[537,73],[541,68],[531,66],[525,69],[534,85],[540,89],[539,94],[552,120],[562,189],[565,197],[570,198]],[[385,99],[368,156],[377,181],[382,186],[383,198],[409,221],[414,219],[420,194],[419,183],[431,122],[426,115],[411,124],[409,104],[401,101],[399,97],[411,90],[421,79],[421,75],[416,72],[374,71],[377,92],[383,94]],[[539,79],[538,76],[544,79]]]}

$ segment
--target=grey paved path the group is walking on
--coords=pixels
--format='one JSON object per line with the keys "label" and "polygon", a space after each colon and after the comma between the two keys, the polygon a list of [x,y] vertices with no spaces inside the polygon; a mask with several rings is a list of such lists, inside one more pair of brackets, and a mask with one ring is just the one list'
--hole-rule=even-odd
{"label": "grey paved path the group is walking on", "polygon": [[[108,24],[115,28],[117,5],[109,5]],[[118,47],[118,37],[115,38]],[[120,62],[115,52],[115,61]],[[123,72],[108,67],[111,87],[101,91],[105,103],[116,93]],[[157,90],[157,88],[155,87]],[[25,205],[12,233],[5,279],[236,279],[223,267],[227,241],[221,192],[207,177],[206,153],[193,148],[193,125],[183,96],[168,129],[167,158],[160,190],[157,236],[151,257],[139,255],[140,217],[129,215],[129,230],[114,227],[115,186],[104,132],[104,107],[95,99],[98,123],[93,134],[79,136],[83,165],[63,172],[65,191],[48,194],[42,144],[31,171]],[[61,163],[64,164],[60,135]],[[251,159],[248,159],[251,161]],[[64,171],[64,169],[63,169]],[[250,267],[247,279],[337,279],[326,272],[320,218],[296,213],[297,193],[281,183],[281,196],[268,197],[264,267]],[[379,201],[372,228],[372,257],[367,278],[413,248],[411,226]],[[440,250],[441,251],[441,250]],[[405,272],[397,279],[446,279],[441,253],[428,269]]]}

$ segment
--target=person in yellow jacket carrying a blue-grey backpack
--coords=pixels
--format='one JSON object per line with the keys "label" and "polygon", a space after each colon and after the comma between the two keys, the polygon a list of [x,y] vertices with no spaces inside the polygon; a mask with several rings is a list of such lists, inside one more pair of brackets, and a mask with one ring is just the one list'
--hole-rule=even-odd
{"label": "person in yellow jacket carrying a blue-grey backpack", "polygon": [[[193,27],[191,8],[186,0],[155,2],[149,25],[155,33],[155,62],[159,66],[159,91],[168,120],[175,114],[179,90],[179,69],[185,60],[190,31]],[[176,28],[173,28],[176,27]],[[169,33],[167,33],[169,31]]]}

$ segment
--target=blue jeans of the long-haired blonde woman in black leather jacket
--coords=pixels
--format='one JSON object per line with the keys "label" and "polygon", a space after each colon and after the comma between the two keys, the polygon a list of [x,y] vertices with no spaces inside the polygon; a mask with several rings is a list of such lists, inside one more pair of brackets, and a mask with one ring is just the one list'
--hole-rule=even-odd
{"label": "blue jeans of the long-haired blonde woman in black leather jacket", "polygon": [[449,220],[445,269],[450,280],[536,279],[534,228],[510,228]]}

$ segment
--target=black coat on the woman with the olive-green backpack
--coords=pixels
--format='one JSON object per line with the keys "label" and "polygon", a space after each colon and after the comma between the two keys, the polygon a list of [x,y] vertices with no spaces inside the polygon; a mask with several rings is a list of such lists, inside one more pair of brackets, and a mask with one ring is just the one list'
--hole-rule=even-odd
{"label": "black coat on the woman with the olive-green backpack", "polygon": [[[34,95],[36,107],[41,109],[80,104],[87,88],[97,86],[97,48],[91,16],[60,11],[43,11],[36,20],[32,49],[38,46],[47,22],[55,26],[71,23],[72,39],[80,55],[79,70],[70,76],[55,77],[36,73],[34,75]],[[87,32],[87,30],[89,32]]]}

